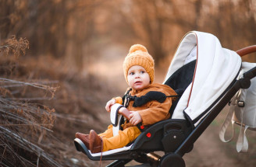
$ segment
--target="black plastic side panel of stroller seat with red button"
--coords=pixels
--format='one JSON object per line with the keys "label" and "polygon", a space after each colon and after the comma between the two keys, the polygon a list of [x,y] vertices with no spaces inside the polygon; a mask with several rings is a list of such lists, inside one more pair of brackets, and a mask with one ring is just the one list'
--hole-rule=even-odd
{"label": "black plastic side panel of stroller seat with red button", "polygon": [[131,149],[171,151],[178,148],[191,131],[192,126],[187,120],[162,120],[142,132],[134,141]]}

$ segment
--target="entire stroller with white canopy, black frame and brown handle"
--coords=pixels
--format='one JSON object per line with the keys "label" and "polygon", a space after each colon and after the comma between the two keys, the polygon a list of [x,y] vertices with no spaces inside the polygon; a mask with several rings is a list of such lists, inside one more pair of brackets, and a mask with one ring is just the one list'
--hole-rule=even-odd
{"label": "entire stroller with white canopy, black frame and brown handle", "polygon": [[[144,130],[133,144],[103,153],[91,154],[80,139],[76,150],[94,161],[116,160],[109,166],[125,166],[135,160],[140,166],[185,167],[183,155],[239,89],[250,87],[256,67],[237,79],[241,56],[256,52],[256,46],[234,52],[222,48],[209,33],[192,31],[181,40],[165,77],[165,85],[180,97],[172,104],[169,120],[162,120]],[[155,151],[163,151],[159,156]]]}

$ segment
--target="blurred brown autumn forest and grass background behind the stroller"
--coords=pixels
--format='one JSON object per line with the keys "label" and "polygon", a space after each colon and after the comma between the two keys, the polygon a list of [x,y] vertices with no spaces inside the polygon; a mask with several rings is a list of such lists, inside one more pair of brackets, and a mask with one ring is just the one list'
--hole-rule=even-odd
{"label": "blurred brown autumn forest and grass background behind the stroller", "polygon": [[[105,103],[126,90],[130,46],[148,48],[162,82],[190,30],[212,33],[230,50],[254,45],[256,1],[0,0],[1,166],[97,166],[73,138],[110,123]],[[255,54],[244,61],[256,62]],[[225,114],[184,156],[187,166],[256,165],[255,133],[247,154],[219,140]]]}

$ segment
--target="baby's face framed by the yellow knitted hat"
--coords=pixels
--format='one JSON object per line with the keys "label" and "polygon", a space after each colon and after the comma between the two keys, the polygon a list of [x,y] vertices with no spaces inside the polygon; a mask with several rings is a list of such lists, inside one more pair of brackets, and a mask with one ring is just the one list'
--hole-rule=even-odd
{"label": "baby's face framed by the yellow knitted hat", "polygon": [[130,87],[135,90],[142,90],[150,85],[148,72],[140,65],[133,65],[128,70],[127,80]]}

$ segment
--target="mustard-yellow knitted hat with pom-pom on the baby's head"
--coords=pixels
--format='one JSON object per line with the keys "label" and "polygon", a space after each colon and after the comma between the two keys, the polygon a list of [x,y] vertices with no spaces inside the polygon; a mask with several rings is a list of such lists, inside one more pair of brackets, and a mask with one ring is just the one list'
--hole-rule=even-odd
{"label": "mustard-yellow knitted hat with pom-pom on the baby's head", "polygon": [[127,54],[126,58],[123,61],[123,72],[124,77],[127,80],[127,75],[129,69],[133,65],[140,65],[141,67],[145,68],[145,70],[148,72],[148,75],[150,77],[150,83],[154,82],[155,77],[155,63],[153,57],[151,57],[150,54],[148,54],[148,50],[146,47],[140,44],[134,44],[130,47],[129,54]]}

